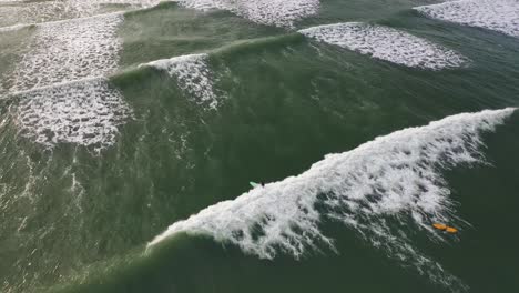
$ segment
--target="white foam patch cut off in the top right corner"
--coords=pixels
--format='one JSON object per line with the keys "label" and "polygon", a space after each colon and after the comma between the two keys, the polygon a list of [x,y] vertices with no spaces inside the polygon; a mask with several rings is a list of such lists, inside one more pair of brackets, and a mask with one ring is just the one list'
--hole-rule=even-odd
{"label": "white foam patch cut off in the top right corner", "polygon": [[460,0],[415,9],[430,18],[519,37],[518,0]]}

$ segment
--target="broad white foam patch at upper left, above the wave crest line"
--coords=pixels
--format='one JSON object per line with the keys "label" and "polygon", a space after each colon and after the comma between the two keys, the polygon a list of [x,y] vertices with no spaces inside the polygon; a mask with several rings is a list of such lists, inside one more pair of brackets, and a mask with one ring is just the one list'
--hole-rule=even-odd
{"label": "broad white foam patch at upper left, above the wave crest line", "polygon": [[118,68],[121,42],[119,13],[37,26],[34,41],[8,84],[23,91],[89,77],[103,77]]}

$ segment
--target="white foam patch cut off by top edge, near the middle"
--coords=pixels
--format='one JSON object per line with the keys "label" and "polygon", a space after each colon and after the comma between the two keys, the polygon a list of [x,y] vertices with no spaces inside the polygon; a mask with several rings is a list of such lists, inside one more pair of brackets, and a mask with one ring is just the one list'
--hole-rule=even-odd
{"label": "white foam patch cut off by top edge, near the middle", "polygon": [[316,14],[319,0],[179,0],[186,8],[222,9],[267,26],[294,27],[294,22]]}

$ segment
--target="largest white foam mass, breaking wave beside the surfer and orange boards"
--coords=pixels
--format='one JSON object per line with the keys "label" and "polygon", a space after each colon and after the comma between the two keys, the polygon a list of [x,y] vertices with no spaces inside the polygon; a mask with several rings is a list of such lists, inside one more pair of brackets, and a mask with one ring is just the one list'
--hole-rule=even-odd
{"label": "largest white foam mass, breaking wave beside the surfer and orange boards", "polygon": [[210,235],[245,253],[296,259],[333,241],[319,230],[325,219],[356,230],[367,242],[448,286],[461,282],[421,255],[406,231],[424,231],[456,220],[440,170],[482,160],[480,134],[515,109],[462,113],[376,138],[355,150],[328,154],[297,175],[253,189],[172,224],[149,249],[176,233]]}

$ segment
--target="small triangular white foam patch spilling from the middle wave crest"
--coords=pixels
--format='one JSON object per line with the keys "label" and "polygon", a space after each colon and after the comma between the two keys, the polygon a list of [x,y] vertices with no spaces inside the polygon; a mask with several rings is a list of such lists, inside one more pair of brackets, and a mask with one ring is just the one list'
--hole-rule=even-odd
{"label": "small triangular white foam patch spilling from the middle wave crest", "polygon": [[179,87],[191,94],[194,102],[216,108],[218,99],[213,90],[207,58],[207,54],[190,54],[157,60],[144,65],[163,70],[176,78]]}

